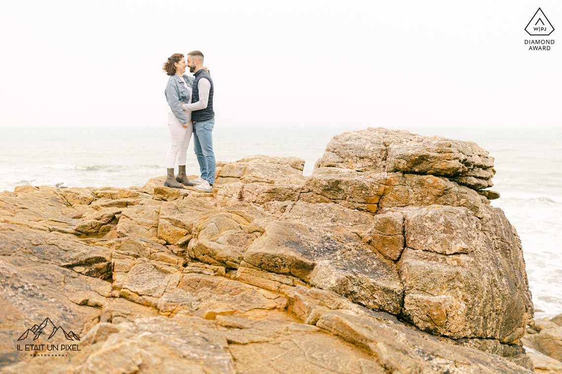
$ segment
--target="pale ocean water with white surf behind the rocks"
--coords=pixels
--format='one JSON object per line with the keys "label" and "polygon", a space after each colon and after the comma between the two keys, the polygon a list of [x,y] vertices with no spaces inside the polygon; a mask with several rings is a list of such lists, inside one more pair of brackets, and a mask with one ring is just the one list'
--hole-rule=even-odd
{"label": "pale ocean water with white surf behind the rocks", "polygon": [[[217,123],[218,125],[218,123]],[[216,159],[297,156],[309,175],[330,138],[355,127],[220,127]],[[495,158],[492,206],[504,210],[522,244],[536,317],[562,313],[562,130],[555,127],[396,127],[420,135],[470,140]],[[0,127],[0,191],[21,184],[142,186],[164,175],[169,142],[162,127]],[[188,149],[188,174],[198,174]]]}

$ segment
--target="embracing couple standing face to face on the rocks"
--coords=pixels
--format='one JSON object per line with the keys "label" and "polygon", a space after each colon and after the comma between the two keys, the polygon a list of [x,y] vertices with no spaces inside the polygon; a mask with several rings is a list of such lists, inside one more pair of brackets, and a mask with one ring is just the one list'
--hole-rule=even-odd
{"label": "embracing couple standing face to face on the rocks", "polygon": [[[194,76],[184,74],[185,67]],[[213,84],[209,70],[203,67],[203,53],[198,50],[187,54],[174,53],[162,70],[170,76],[165,95],[171,113],[168,114],[170,148],[166,154],[167,178],[164,186],[183,188],[195,186],[202,192],[212,192],[215,182],[215,153],[212,150],[212,128],[215,112],[212,109]],[[187,147],[193,134],[193,150],[197,156],[201,176],[189,181],[185,174]],[[179,173],[174,177],[178,159]]]}

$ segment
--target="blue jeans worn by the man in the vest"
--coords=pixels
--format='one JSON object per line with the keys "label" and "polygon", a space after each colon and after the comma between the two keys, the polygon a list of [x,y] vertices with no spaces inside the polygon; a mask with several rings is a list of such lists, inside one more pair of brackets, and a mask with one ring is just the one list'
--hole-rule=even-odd
{"label": "blue jeans worn by the man in the vest", "polygon": [[205,121],[193,122],[193,150],[197,156],[201,178],[215,183],[215,153],[212,151],[212,128],[215,126],[215,118]]}

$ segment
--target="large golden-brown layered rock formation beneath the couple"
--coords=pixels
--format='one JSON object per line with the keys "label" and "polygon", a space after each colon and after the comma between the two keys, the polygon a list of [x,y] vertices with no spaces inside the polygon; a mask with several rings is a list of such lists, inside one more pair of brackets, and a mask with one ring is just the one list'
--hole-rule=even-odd
{"label": "large golden-brown layered rock formation beneath the couple", "polygon": [[[369,128],[303,165],[219,163],[212,195],[164,177],[0,193],[0,372],[531,372],[486,150]],[[15,349],[47,316],[80,351]]]}

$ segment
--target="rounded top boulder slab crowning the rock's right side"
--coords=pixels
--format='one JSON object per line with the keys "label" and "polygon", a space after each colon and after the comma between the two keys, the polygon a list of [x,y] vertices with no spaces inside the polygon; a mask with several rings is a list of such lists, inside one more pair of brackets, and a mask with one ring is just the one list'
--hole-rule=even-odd
{"label": "rounded top boulder slab crowning the rock's right side", "polygon": [[491,179],[496,173],[493,158],[474,142],[383,128],[334,136],[315,167],[432,174],[474,190],[492,187]]}

